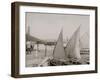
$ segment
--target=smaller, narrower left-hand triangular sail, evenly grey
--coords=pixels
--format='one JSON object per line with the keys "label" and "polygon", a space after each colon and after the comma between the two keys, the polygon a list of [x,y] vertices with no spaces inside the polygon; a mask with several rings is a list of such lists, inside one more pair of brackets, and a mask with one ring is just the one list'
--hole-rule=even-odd
{"label": "smaller, narrower left-hand triangular sail, evenly grey", "polygon": [[59,38],[57,40],[57,44],[54,48],[53,57],[54,59],[65,59],[65,50],[63,46],[63,31],[61,30],[59,34]]}

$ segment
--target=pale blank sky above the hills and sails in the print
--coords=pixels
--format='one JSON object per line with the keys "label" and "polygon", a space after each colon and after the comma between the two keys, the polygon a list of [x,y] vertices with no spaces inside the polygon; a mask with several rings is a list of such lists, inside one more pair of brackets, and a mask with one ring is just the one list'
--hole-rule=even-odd
{"label": "pale blank sky above the hills and sails in the print", "polygon": [[89,15],[54,14],[54,13],[26,13],[26,32],[30,27],[30,34],[44,40],[57,40],[61,29],[63,38],[69,39],[80,26],[80,37],[89,35]]}

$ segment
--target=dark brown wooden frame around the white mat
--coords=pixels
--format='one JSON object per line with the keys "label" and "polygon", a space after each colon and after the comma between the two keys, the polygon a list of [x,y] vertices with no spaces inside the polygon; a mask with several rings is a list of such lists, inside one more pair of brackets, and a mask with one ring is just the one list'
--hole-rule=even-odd
{"label": "dark brown wooden frame around the white mat", "polygon": [[[43,73],[43,74],[23,74],[20,75],[20,6],[39,6],[39,7],[55,7],[55,8],[72,8],[72,9],[87,9],[95,11],[95,70],[76,71],[76,72],[57,72],[57,73]],[[22,77],[40,77],[40,76],[56,76],[56,75],[72,75],[97,73],[97,7],[96,6],[80,6],[80,5],[62,5],[62,4],[46,4],[46,3],[29,3],[29,2],[13,2],[11,4],[11,76],[16,78]]]}

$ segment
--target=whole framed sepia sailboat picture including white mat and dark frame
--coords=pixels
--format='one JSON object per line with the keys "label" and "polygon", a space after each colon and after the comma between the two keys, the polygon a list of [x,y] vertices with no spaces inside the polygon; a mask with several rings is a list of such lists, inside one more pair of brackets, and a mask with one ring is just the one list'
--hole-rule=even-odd
{"label": "whole framed sepia sailboat picture including white mat and dark frame", "polygon": [[12,76],[97,73],[97,7],[12,3]]}

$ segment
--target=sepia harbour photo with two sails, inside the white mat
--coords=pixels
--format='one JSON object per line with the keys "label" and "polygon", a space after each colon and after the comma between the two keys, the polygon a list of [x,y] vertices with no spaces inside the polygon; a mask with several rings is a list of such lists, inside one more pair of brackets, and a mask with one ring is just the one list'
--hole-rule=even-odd
{"label": "sepia harbour photo with two sails, inside the white mat", "polygon": [[25,66],[90,64],[90,16],[25,13]]}

